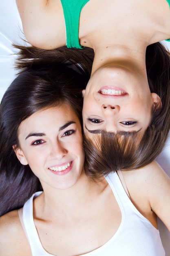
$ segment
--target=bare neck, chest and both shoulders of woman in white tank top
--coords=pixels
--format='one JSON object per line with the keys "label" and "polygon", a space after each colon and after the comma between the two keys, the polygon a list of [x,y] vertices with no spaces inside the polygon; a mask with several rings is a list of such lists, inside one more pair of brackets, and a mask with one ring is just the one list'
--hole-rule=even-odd
{"label": "bare neck, chest and both shoulders of woman in white tank top", "polygon": [[[156,228],[157,213],[170,230],[170,178],[160,166],[152,162],[137,171],[123,172],[123,175],[130,199],[139,212]],[[69,191],[53,189],[46,192],[34,200],[33,207],[35,226],[47,252],[66,256],[90,252],[106,243],[117,231],[121,212],[105,179],[89,182],[82,174]],[[67,247],[64,246],[66,241]],[[31,256],[18,211],[0,218],[0,252],[4,256]]]}

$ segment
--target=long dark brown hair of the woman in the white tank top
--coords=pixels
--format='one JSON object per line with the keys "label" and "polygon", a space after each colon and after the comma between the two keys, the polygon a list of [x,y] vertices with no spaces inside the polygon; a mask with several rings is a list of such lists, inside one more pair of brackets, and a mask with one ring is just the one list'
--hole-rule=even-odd
{"label": "long dark brown hair of the woman in the white tank top", "polygon": [[0,104],[0,215],[22,207],[35,191],[42,190],[30,167],[20,164],[13,151],[12,146],[18,145],[19,125],[38,110],[62,103],[81,121],[81,91],[86,88],[92,65],[88,54],[71,49],[19,49],[20,74]]}

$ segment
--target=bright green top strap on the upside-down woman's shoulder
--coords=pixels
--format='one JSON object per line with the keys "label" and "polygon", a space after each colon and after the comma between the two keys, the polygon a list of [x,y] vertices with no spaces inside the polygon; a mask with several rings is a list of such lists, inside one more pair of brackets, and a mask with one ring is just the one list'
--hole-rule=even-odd
{"label": "bright green top strap on the upside-down woman's shoulder", "polygon": [[79,16],[82,8],[89,0],[61,0],[65,25],[67,48],[84,48],[79,44]]}

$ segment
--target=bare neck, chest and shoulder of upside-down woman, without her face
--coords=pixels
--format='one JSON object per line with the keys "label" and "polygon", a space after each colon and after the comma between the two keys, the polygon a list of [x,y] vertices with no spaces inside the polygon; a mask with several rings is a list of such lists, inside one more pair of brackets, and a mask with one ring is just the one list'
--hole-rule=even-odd
{"label": "bare neck, chest and shoulder of upside-down woman, without her face", "polygon": [[[43,49],[66,45],[60,0],[16,2],[31,44]],[[170,8],[166,0],[106,0],[100,4],[91,0],[80,15],[79,42],[95,51],[92,74],[113,57],[139,60],[138,65],[145,67],[146,47],[168,38]]]}

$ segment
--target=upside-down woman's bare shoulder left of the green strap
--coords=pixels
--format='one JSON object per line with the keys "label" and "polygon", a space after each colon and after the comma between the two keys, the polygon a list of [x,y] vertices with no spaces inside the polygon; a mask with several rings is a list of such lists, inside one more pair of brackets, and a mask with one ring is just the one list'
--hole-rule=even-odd
{"label": "upside-down woman's bare shoulder left of the green strap", "polygon": [[65,22],[59,0],[16,0],[26,40],[42,49],[65,45]]}

